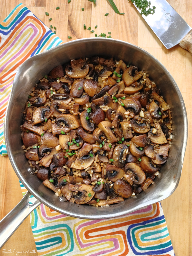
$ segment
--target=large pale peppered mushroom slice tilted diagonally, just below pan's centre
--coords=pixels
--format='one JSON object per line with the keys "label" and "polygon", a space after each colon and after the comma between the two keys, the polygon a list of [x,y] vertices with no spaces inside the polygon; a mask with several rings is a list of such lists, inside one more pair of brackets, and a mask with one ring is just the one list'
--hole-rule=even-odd
{"label": "large pale peppered mushroom slice tilted diagonally, just below pan's centre", "polygon": [[84,143],[83,147],[79,150],[78,156],[76,158],[75,164],[73,165],[73,168],[76,168],[77,170],[83,170],[89,167],[94,159],[95,155],[91,151],[92,145],[88,143]]}

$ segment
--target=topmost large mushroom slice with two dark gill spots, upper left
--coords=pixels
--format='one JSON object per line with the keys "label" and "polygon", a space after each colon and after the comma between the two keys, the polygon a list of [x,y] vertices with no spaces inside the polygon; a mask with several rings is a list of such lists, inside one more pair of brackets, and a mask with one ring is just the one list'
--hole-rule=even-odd
{"label": "topmost large mushroom slice with two dark gill spots, upper left", "polygon": [[65,72],[69,77],[72,78],[82,78],[86,76],[89,72],[89,65],[82,59],[71,60],[71,64],[67,65]]}

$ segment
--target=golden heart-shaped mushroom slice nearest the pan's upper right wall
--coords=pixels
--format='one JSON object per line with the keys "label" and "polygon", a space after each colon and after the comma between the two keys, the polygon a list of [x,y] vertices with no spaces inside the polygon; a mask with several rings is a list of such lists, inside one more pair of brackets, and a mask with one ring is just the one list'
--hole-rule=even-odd
{"label": "golden heart-shaped mushroom slice nearest the pan's upper right wall", "polygon": [[127,68],[123,73],[123,81],[126,86],[131,85],[132,83],[136,82],[139,78],[143,76],[143,72],[138,72],[138,68],[135,66],[131,66]]}

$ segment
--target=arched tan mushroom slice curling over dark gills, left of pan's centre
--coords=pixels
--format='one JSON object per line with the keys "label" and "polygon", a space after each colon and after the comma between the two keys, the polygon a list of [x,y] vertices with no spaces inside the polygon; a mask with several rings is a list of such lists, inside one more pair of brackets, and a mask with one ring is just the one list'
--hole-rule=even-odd
{"label": "arched tan mushroom slice curling over dark gills, left of pan's centre", "polygon": [[69,132],[80,126],[76,117],[68,114],[60,114],[56,117],[55,122],[56,124],[60,124],[61,122],[65,124],[65,127],[62,129],[63,132]]}

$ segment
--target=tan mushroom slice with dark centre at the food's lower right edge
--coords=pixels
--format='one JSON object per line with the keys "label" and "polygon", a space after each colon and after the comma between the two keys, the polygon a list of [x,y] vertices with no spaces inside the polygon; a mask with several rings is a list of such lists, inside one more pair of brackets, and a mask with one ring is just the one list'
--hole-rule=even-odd
{"label": "tan mushroom slice with dark centre at the food's lower right edge", "polygon": [[169,152],[169,143],[160,145],[155,149],[155,159],[152,161],[155,164],[164,164],[167,161],[167,156]]}

